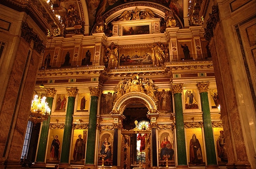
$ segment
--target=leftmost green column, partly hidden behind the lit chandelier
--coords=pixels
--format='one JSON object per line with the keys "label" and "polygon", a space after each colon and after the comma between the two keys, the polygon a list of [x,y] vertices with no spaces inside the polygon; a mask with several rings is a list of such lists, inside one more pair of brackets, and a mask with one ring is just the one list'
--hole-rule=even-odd
{"label": "leftmost green column, partly hidden behind the lit chandelier", "polygon": [[[48,103],[49,108],[52,110],[52,103],[53,98],[56,93],[56,90],[54,88],[46,88],[46,102]],[[52,112],[52,111],[51,111]],[[50,112],[50,114],[51,114]],[[41,135],[38,145],[38,151],[36,156],[36,165],[45,165],[45,156],[47,151],[47,138],[48,138],[48,132],[49,132],[49,125],[50,125],[50,116],[47,120],[42,122],[42,128],[41,128]],[[40,164],[41,163],[41,164]]]}

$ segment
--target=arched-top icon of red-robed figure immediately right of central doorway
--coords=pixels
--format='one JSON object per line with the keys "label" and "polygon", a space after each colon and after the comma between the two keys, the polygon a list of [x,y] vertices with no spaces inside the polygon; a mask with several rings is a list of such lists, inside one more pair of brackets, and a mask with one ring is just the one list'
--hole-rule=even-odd
{"label": "arched-top icon of red-robed figure immediately right of central doorway", "polygon": [[[175,166],[174,135],[172,130],[159,130],[158,132],[158,162],[159,166]],[[166,163],[168,161],[168,163]]]}

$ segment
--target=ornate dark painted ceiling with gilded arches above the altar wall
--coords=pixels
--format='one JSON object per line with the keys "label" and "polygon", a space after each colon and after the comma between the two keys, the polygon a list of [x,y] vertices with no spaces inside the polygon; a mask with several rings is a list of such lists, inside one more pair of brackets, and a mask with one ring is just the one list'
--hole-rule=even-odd
{"label": "ornate dark painted ceiling with gilded arches above the altar wall", "polygon": [[[25,11],[38,22],[40,28],[51,36],[69,34],[90,35],[95,30],[98,16],[106,25],[116,21],[123,11],[150,9],[155,16],[164,19],[166,11],[173,11],[178,27],[203,24],[209,0],[4,0],[0,4],[18,11]],[[136,8],[137,7],[137,8]],[[69,20],[69,14],[75,18]],[[141,19],[141,18],[140,18]]]}

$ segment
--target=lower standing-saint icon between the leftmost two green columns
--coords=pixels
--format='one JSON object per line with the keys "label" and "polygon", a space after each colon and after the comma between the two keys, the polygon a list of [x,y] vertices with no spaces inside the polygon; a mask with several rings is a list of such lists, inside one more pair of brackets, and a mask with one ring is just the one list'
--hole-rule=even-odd
{"label": "lower standing-saint icon between the leftmost two green columns", "polygon": [[[52,124],[52,127],[56,127],[57,125]],[[47,148],[47,162],[48,163],[59,163],[60,153],[62,147],[62,139],[63,139],[63,131],[60,129],[52,129],[50,130],[50,136],[48,137],[48,148]]]}

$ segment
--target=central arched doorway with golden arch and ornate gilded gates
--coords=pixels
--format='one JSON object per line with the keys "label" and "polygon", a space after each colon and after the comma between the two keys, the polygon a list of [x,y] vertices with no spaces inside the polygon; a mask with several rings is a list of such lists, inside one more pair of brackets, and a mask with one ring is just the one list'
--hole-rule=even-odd
{"label": "central arched doorway with golden arch and ornate gilded gates", "polygon": [[[121,168],[152,166],[152,129],[158,116],[153,99],[142,92],[129,92],[115,103],[112,114],[124,116],[121,129]],[[156,141],[155,141],[156,142]]]}

